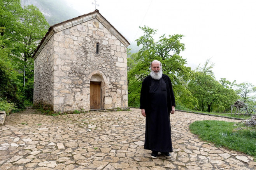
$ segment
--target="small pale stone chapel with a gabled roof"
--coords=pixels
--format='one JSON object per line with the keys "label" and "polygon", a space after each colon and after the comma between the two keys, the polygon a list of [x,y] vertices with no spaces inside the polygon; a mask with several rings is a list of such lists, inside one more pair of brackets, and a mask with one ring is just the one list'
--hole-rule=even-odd
{"label": "small pale stone chapel with a gabled roof", "polygon": [[128,108],[129,44],[98,10],[51,26],[33,55],[34,106]]}

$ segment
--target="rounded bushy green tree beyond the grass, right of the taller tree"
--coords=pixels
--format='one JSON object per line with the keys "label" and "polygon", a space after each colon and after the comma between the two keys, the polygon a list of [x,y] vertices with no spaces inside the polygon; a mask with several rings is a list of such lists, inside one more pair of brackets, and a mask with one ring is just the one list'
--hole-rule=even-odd
{"label": "rounded bushy green tree beyond the grass, right of the taller tree", "polygon": [[198,100],[198,111],[226,111],[234,103],[237,95],[235,91],[228,87],[231,84],[226,79],[222,83],[217,82],[212,72],[214,64],[210,64],[208,59],[201,68],[200,64],[195,70],[195,79],[188,84],[190,92]]}

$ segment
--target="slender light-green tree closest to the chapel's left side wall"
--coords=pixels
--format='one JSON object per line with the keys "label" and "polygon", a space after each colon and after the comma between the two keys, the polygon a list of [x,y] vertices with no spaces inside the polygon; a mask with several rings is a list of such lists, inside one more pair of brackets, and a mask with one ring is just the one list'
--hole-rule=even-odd
{"label": "slender light-green tree closest to the chapel's left side wall", "polygon": [[40,10],[33,6],[25,6],[20,14],[19,28],[16,30],[17,49],[21,70],[23,68],[23,86],[28,79],[33,79],[34,63],[32,55],[44,37],[49,24]]}

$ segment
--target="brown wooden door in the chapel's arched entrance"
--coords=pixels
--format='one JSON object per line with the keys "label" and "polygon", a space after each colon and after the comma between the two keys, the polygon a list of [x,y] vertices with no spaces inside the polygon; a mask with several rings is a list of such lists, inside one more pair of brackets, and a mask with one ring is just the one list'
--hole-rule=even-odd
{"label": "brown wooden door in the chapel's arched entrance", "polygon": [[90,109],[100,109],[100,82],[90,83]]}

